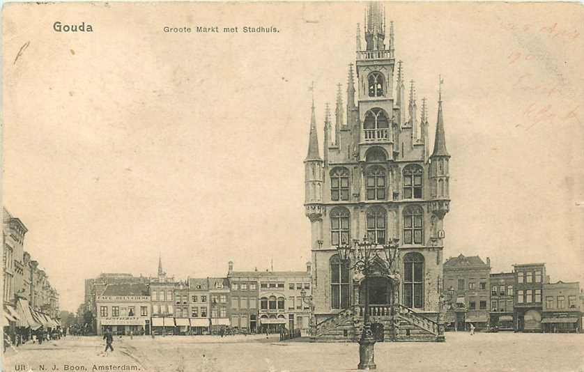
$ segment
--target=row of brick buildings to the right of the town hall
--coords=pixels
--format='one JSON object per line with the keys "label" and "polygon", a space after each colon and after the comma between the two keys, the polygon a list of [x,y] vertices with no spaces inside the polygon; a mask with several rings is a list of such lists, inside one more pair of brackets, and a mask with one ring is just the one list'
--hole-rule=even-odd
{"label": "row of brick buildings to the right of the town hall", "polygon": [[545,263],[513,265],[491,273],[479,256],[444,263],[446,322],[454,330],[479,328],[516,332],[578,332],[584,323],[584,291],[579,282],[551,282]]}

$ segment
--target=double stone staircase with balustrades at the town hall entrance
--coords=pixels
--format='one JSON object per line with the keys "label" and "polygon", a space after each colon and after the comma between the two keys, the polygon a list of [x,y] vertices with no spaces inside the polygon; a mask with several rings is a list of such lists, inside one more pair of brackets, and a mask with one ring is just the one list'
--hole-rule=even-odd
{"label": "double stone staircase with balustrades at the town hall entrance", "polygon": [[[436,341],[438,323],[404,305],[369,305],[369,322],[378,341]],[[356,342],[364,326],[364,307],[354,305],[316,324],[313,341]],[[383,332],[381,331],[383,327]]]}

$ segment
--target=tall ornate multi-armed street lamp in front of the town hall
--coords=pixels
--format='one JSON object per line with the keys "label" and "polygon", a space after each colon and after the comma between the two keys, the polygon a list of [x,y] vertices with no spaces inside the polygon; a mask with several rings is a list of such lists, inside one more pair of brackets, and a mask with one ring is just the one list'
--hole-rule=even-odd
{"label": "tall ornate multi-armed street lamp in front of the town hall", "polygon": [[[370,370],[376,369],[375,364],[375,338],[371,332],[371,321],[369,320],[369,276],[374,270],[376,263],[383,263],[382,270],[390,277],[394,270],[392,265],[399,257],[399,239],[391,239],[385,245],[377,245],[364,236],[362,241],[353,240],[353,245],[342,241],[337,245],[337,253],[342,264],[346,265],[349,270],[360,272],[364,279],[364,314],[363,314],[363,331],[359,339],[359,364],[358,369]],[[383,256],[379,251],[383,251]],[[351,265],[351,261],[352,265]],[[393,307],[393,301],[391,306]],[[394,313],[392,309],[392,314]]]}

